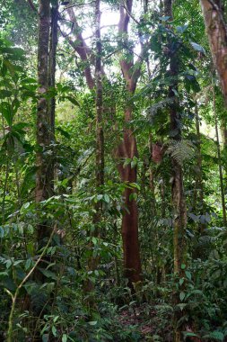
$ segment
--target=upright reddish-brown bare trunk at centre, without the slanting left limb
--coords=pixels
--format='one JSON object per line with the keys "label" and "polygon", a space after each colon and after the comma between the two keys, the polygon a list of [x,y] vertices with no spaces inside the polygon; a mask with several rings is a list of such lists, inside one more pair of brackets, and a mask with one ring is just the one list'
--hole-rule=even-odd
{"label": "upright reddish-brown bare trunk at centre, without the slanting left limb", "polygon": [[[120,20],[118,23],[118,32],[123,36],[123,40],[127,44],[127,27],[132,12],[133,1],[129,0],[127,3],[120,4]],[[125,7],[127,6],[127,8]],[[135,68],[133,56],[128,60],[126,58],[120,59],[120,67],[126,81],[127,97],[130,98],[135,93],[137,79],[140,75],[140,68]],[[126,101],[128,101],[128,98]],[[117,157],[119,158],[118,170],[122,182],[136,183],[137,168],[132,168],[130,165],[123,166],[124,159],[133,158],[137,156],[136,141],[133,131],[128,128],[129,121],[132,120],[132,105],[126,103],[125,108],[125,128],[123,134],[123,141],[118,146]],[[124,273],[128,279],[128,285],[133,288],[133,283],[142,280],[141,259],[138,238],[138,209],[135,200],[136,190],[133,188],[126,188],[124,193],[125,210],[122,218],[122,239],[123,239],[123,253],[124,253]]]}

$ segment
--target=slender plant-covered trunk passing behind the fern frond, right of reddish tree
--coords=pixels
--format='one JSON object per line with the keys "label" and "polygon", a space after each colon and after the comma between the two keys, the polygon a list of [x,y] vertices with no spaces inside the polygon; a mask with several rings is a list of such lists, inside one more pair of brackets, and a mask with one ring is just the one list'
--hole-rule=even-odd
{"label": "slender plant-covered trunk passing behind the fern frond, right of reddish tree", "polygon": [[[166,16],[172,16],[172,0],[164,1],[164,11]],[[171,44],[171,41],[170,41]],[[171,49],[170,49],[171,50]],[[178,51],[173,51],[170,56],[170,76],[177,78],[179,74],[179,57]],[[174,131],[176,141],[181,140],[180,129],[180,108],[179,99],[175,95],[175,90],[178,89],[178,82],[173,81],[170,85],[169,96],[173,98],[173,103],[170,105],[170,131]],[[174,274],[177,275],[177,281],[183,277],[181,265],[185,262],[185,233],[187,226],[187,207],[183,184],[183,168],[175,158],[171,158],[172,165],[172,207],[173,207],[173,257],[174,257]],[[174,295],[175,305],[179,304],[179,293]],[[182,341],[181,329],[179,327],[179,319],[182,315],[179,310],[176,310],[174,317],[174,342]]]}

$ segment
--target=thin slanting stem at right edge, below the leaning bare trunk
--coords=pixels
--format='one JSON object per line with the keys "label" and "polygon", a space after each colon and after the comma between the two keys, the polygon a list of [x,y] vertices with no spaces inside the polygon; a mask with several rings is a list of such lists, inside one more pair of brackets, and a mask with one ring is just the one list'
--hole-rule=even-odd
{"label": "thin slanting stem at right edge, below the leaning bare trunk", "polygon": [[226,222],[226,208],[225,208],[225,196],[224,196],[224,185],[223,185],[223,166],[222,166],[221,148],[220,148],[219,131],[218,131],[218,123],[217,123],[214,85],[213,85],[213,110],[214,110],[214,121],[215,121],[215,133],[216,133],[216,139],[217,139],[217,157],[218,157],[220,189],[221,189],[221,198],[222,198],[222,206],[223,206],[223,225],[226,227],[227,222]]}

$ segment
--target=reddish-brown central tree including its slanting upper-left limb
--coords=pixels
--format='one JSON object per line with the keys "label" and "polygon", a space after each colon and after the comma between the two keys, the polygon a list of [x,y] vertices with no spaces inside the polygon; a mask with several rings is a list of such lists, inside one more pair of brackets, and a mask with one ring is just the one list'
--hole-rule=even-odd
{"label": "reddish-brown central tree including its slanting upper-left limb", "polygon": [[[127,25],[129,23],[129,13],[132,9],[132,0],[129,0],[127,3],[127,10],[124,8],[125,4],[120,4],[120,21],[118,25],[120,35],[123,36],[126,34],[127,36]],[[70,45],[74,48],[74,50],[79,54],[84,62],[86,62],[86,67],[84,69],[84,76],[86,77],[87,85],[90,89],[94,88],[95,81],[92,77],[92,69],[90,67],[91,61],[91,50],[87,47],[85,41],[83,40],[83,36],[81,31],[79,30],[78,23],[75,18],[73,8],[68,8],[67,13],[70,16],[70,20],[74,23],[74,33],[76,37],[76,42],[70,40],[67,37]],[[79,32],[79,33],[78,33]],[[93,59],[93,58],[92,58]],[[132,58],[131,58],[132,59]],[[141,59],[139,59],[136,66],[141,63]],[[97,66],[97,64],[96,64]],[[135,86],[138,76],[140,75],[140,67],[134,66],[134,63],[128,62],[124,58],[120,60],[120,66],[123,72],[123,76],[127,83],[127,94],[130,96],[135,93]],[[96,68],[97,69],[97,68]],[[102,70],[103,76],[103,70]],[[97,81],[97,77],[96,77]],[[128,97],[129,97],[128,96]],[[132,130],[128,129],[127,124],[132,118],[132,108],[130,105],[126,105],[125,108],[125,122],[126,128],[124,129],[124,139],[120,147],[117,151],[117,156],[119,158],[127,158],[134,157],[137,153],[136,151],[136,143],[135,137],[133,136]],[[100,135],[101,138],[101,135]],[[100,139],[101,140],[101,139]],[[123,182],[136,182],[136,167],[131,169],[130,166],[127,166],[123,169],[123,164],[119,167],[119,173],[121,175]],[[139,243],[138,243],[138,213],[137,213],[137,204],[135,199],[131,199],[131,194],[135,193],[133,189],[126,189],[125,191],[125,205],[127,210],[125,211],[125,215],[122,219],[122,237],[123,237],[123,245],[124,245],[124,267],[126,269],[126,276],[129,280],[129,284],[137,282],[141,280],[141,263],[139,256]],[[130,197],[130,200],[129,200]],[[130,214],[128,214],[128,211]],[[128,238],[127,238],[128,237]],[[127,242],[128,241],[128,242]],[[133,241],[133,243],[132,243]]]}

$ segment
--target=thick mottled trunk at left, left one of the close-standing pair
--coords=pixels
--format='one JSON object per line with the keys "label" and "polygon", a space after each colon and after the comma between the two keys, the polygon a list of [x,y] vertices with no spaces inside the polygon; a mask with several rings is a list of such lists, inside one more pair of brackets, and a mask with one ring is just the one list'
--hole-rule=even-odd
{"label": "thick mottled trunk at left, left one of the close-standing pair", "polygon": [[[39,42],[38,42],[38,83],[39,100],[37,107],[37,145],[36,156],[36,202],[47,200],[53,195],[53,164],[47,153],[50,145],[50,120],[48,112],[48,99],[44,96],[48,92],[48,48],[50,29],[50,1],[39,0]],[[50,228],[46,222],[39,222],[38,241],[48,238]]]}

